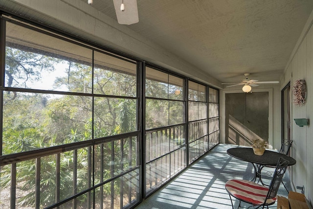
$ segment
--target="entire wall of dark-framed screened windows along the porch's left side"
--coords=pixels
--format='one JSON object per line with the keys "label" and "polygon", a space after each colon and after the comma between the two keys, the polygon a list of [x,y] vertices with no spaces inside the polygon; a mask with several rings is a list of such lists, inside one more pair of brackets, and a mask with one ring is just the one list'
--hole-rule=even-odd
{"label": "entire wall of dark-framed screened windows along the porch's left side", "polygon": [[3,208],[132,208],[218,143],[218,90],[1,20]]}

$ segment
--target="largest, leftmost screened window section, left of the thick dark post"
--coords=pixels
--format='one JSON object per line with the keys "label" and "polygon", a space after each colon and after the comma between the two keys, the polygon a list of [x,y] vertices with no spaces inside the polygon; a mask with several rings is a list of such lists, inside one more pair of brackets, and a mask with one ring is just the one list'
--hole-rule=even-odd
{"label": "largest, leftmost screened window section, left of the thick dark post", "polygon": [[0,44],[1,206],[138,202],[137,62],[14,21]]}

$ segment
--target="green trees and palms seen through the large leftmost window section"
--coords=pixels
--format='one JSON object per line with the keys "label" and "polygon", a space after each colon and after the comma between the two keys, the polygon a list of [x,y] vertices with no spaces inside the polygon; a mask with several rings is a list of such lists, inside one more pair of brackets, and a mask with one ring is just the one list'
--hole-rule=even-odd
{"label": "green trees and palms seen through the large leftmost window section", "polygon": [[[92,92],[91,66],[61,60],[45,55],[6,47],[6,86],[29,88],[32,82],[41,80],[44,71],[53,71],[59,64],[67,65],[66,76],[57,77],[54,88],[66,87],[69,92]],[[32,88],[32,86],[30,87]],[[2,155],[20,153],[60,144],[100,138],[136,130],[136,77],[118,70],[103,67],[94,71],[94,93],[105,95],[134,96],[134,99],[111,97],[73,96],[62,94],[40,94],[6,92],[3,95]],[[93,102],[94,99],[94,102]],[[94,107],[92,107],[94,104]],[[93,115],[92,115],[93,114]],[[93,120],[94,118],[94,120]],[[92,134],[94,136],[92,136]],[[124,139],[121,139],[124,140]],[[104,144],[104,155],[94,154],[95,162],[105,162],[104,168],[95,164],[95,176],[91,176],[89,148],[60,154],[60,199],[74,194],[74,155],[77,152],[77,192],[89,188],[88,178],[95,183],[108,180],[136,165],[136,142],[125,139]],[[133,149],[130,150],[130,143]],[[121,154],[121,150],[125,150]],[[133,153],[132,159],[129,152]],[[96,160],[98,159],[98,160]],[[131,164],[131,165],[130,165]],[[41,158],[40,203],[49,206],[56,201],[57,154]],[[0,186],[10,186],[9,165],[1,167]],[[100,180],[100,171],[103,179]],[[17,189],[23,192],[18,205],[34,207],[35,204],[35,160],[17,164]],[[91,181],[91,179],[90,179]],[[92,181],[91,181],[92,182]],[[103,186],[104,195],[119,196],[120,181]],[[113,190],[113,194],[111,189]],[[79,199],[84,204],[85,196]],[[100,197],[99,197],[100,198]],[[102,197],[101,197],[102,198]]]}

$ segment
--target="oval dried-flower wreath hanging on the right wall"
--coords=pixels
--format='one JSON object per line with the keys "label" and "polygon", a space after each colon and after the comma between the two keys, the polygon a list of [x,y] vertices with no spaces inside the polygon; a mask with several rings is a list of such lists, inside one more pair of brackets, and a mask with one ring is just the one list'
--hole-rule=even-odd
{"label": "oval dried-flower wreath hanging on the right wall", "polygon": [[305,80],[298,79],[292,85],[292,94],[293,94],[293,104],[297,106],[302,106],[305,104],[307,96],[307,85]]}

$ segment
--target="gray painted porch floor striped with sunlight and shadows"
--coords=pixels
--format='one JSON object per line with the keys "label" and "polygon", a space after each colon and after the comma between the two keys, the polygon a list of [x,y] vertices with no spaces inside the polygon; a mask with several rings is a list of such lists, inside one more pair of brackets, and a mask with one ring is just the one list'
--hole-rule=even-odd
{"label": "gray painted porch floor striped with sunlight and shadows", "polygon": [[[219,144],[178,177],[149,196],[136,209],[231,209],[229,195],[224,187],[225,182],[229,179],[253,178],[251,163],[237,160],[226,153],[226,150],[232,147],[236,146]],[[264,170],[263,182],[269,183],[270,177],[267,176],[266,170],[273,169]],[[288,171],[284,175],[284,183],[291,190]],[[288,196],[282,184],[277,194]],[[239,201],[234,200],[233,203],[237,208]],[[241,206],[246,209],[250,205],[242,203]],[[277,203],[269,208],[276,207]]]}

